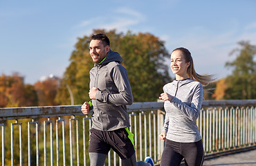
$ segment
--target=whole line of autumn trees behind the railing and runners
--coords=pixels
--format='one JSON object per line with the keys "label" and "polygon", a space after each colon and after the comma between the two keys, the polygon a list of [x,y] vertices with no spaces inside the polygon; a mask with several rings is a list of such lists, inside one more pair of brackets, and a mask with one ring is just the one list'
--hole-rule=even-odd
{"label": "whole line of autumn trees behind the railing and runners", "polygon": [[[164,42],[149,33],[126,34],[116,30],[93,30],[106,33],[111,41],[111,49],[122,56],[122,65],[128,72],[134,102],[156,101],[163,92],[163,85],[172,81],[167,65],[170,53]],[[89,55],[90,37],[77,39],[71,53],[70,64],[62,79],[47,78],[35,84],[24,84],[24,77],[19,73],[0,75],[0,107],[55,106],[71,104],[73,92],[75,104],[89,100],[89,71],[93,67]],[[205,86],[204,100],[234,100],[256,98],[256,46],[249,42],[239,42],[239,48],[232,50],[236,55],[226,67],[232,68],[232,74],[222,78],[216,84]]]}

